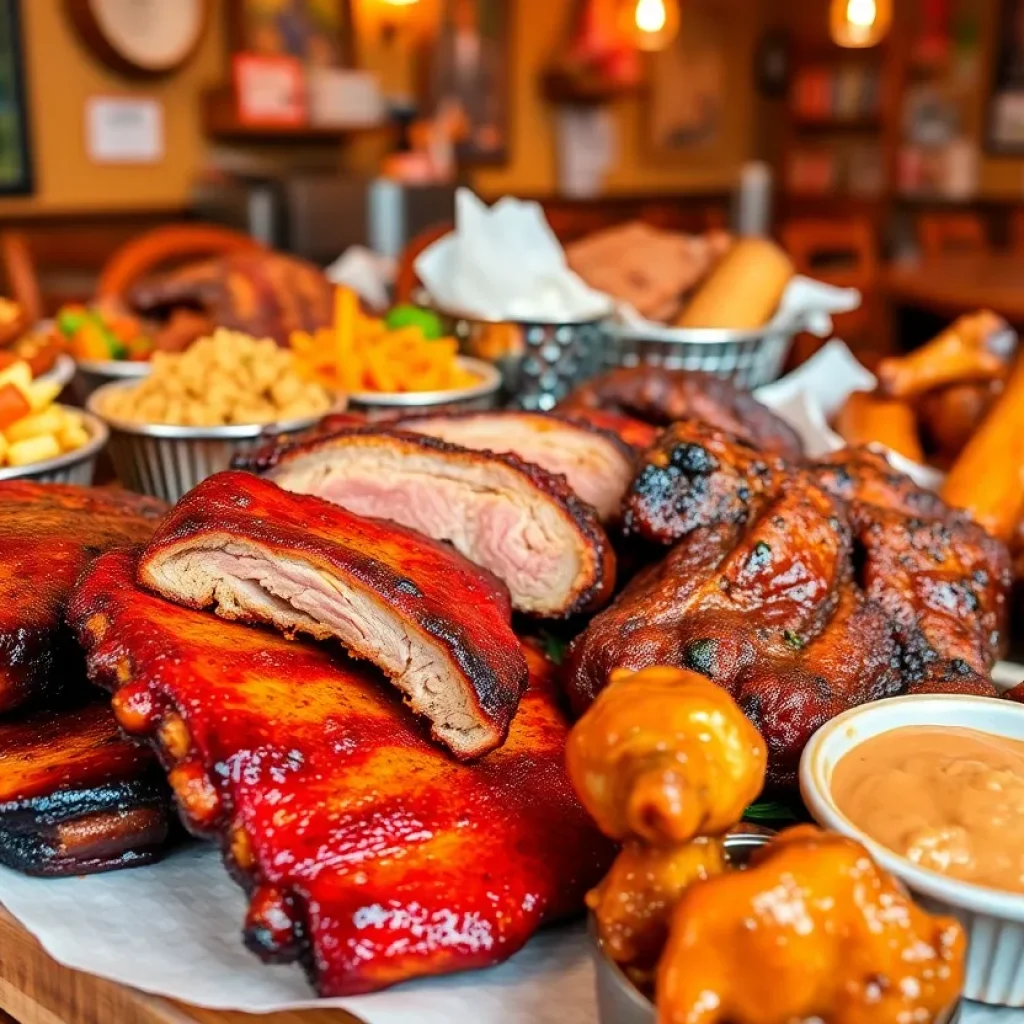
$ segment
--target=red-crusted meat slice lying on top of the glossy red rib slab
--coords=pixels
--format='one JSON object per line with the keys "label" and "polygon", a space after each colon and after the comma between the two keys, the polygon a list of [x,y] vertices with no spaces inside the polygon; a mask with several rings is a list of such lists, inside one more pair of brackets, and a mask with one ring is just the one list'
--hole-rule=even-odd
{"label": "red-crusted meat slice lying on top of the glossy red rib slab", "polygon": [[394,523],[218,473],[174,507],[139,582],[191,608],[336,639],[380,668],[457,757],[501,745],[526,685],[508,595]]}

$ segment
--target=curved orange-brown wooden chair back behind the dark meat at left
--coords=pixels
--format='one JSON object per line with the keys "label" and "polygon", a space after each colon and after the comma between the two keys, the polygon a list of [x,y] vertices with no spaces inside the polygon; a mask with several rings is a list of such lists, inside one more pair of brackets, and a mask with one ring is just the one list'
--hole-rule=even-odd
{"label": "curved orange-brown wooden chair back behind the dark meat at left", "polygon": [[111,256],[100,272],[96,295],[103,299],[122,298],[132,285],[161,267],[263,248],[248,234],[215,224],[157,227],[132,239]]}

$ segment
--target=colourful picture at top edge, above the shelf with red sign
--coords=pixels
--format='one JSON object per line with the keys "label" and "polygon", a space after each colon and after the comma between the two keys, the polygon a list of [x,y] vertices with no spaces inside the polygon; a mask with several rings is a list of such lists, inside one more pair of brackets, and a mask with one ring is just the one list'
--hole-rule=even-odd
{"label": "colourful picture at top edge, above the shelf with red sign", "polygon": [[354,28],[349,0],[230,0],[236,51],[293,57],[314,68],[350,68]]}

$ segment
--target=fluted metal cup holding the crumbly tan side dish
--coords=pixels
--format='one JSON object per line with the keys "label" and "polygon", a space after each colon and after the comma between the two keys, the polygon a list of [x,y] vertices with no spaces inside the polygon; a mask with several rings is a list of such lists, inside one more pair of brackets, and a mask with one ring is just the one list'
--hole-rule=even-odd
{"label": "fluted metal cup holding the crumbly tan side dish", "polygon": [[129,423],[104,414],[103,402],[111,394],[133,386],[133,381],[104,384],[89,395],[86,408],[110,428],[111,460],[121,482],[172,504],[208,476],[228,469],[234,456],[263,443],[265,435],[308,430],[325,415],[279,423],[179,427]]}

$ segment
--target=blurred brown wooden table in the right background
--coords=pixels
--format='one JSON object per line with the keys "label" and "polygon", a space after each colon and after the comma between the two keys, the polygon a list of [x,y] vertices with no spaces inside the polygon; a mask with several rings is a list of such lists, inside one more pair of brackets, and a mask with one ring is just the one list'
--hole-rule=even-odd
{"label": "blurred brown wooden table in the right background", "polygon": [[956,316],[991,309],[1024,325],[1024,256],[992,252],[892,263],[883,288],[893,305],[913,306]]}

